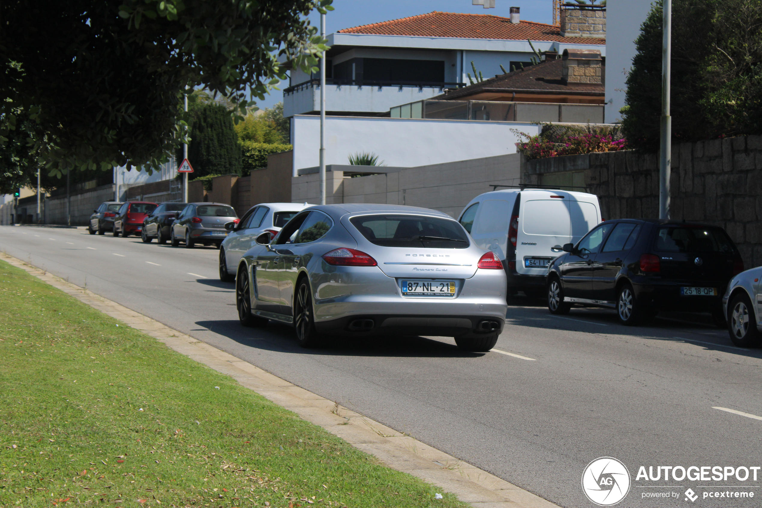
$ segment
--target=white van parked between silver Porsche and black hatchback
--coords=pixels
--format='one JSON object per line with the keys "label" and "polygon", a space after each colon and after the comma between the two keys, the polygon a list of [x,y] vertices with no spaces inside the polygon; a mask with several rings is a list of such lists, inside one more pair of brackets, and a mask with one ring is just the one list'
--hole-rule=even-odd
{"label": "white van parked between silver Porsche and black hatchback", "polygon": [[479,247],[495,252],[508,277],[508,294],[545,294],[549,261],[563,244],[576,244],[600,224],[594,194],[567,190],[510,189],[476,196],[459,222]]}

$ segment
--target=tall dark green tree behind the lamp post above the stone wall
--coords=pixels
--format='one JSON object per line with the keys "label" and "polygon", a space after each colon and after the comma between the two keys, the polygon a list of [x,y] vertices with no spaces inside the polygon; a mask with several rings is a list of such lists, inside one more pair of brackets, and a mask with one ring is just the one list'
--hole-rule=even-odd
{"label": "tall dark green tree behind the lamp post above the stone wall", "polygon": [[[674,142],[762,133],[762,0],[673,0]],[[623,133],[656,152],[661,120],[662,4],[642,24],[627,76]]]}

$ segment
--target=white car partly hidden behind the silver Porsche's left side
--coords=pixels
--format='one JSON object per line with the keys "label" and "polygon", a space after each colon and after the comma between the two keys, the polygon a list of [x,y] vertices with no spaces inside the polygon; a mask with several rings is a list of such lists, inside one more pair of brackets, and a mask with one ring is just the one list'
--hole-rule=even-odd
{"label": "white car partly hidden behind the silver Porsche's left side", "polygon": [[219,246],[219,280],[232,282],[235,280],[235,270],[245,251],[254,247],[255,239],[269,231],[277,235],[293,216],[301,212],[307,203],[259,203],[246,212],[238,224],[230,222],[226,225],[230,233]]}

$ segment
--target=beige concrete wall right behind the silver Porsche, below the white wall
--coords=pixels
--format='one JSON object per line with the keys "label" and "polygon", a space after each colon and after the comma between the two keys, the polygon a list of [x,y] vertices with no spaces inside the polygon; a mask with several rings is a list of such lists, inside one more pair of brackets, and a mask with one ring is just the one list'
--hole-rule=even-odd
{"label": "beige concrete wall right behind the silver Porsche, below the white wall", "polygon": [[[492,190],[490,184],[519,184],[519,157],[498,155],[353,178],[344,177],[343,171],[330,171],[326,203],[421,206],[456,217],[475,196]],[[319,203],[319,175],[293,177],[292,182],[294,203]]]}

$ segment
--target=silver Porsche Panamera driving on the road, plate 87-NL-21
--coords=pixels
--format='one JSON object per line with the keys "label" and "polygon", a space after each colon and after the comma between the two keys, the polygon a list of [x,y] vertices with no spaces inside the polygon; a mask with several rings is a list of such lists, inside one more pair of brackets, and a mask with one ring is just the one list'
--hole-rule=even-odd
{"label": "silver Porsche Panamera driving on the road, plate 87-NL-21", "polygon": [[433,335],[488,351],[505,320],[500,260],[442,212],[413,206],[311,206],[239,263],[239,319],[321,336]]}

